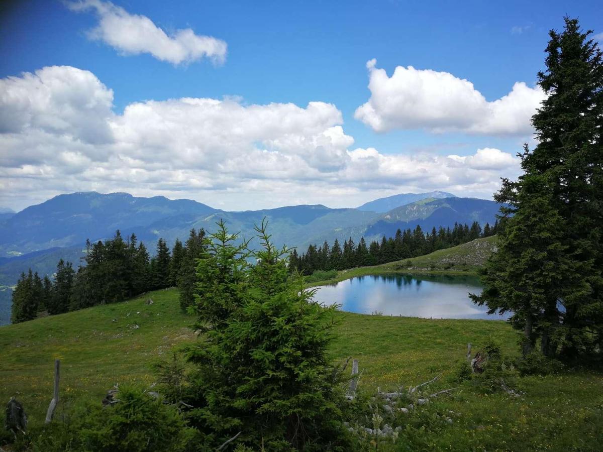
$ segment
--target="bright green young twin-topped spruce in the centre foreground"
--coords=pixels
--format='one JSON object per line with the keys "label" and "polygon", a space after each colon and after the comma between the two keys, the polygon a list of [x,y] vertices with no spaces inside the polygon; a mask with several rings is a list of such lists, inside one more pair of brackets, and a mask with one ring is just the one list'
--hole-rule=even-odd
{"label": "bright green young twin-topped spruce in the centre foreground", "polygon": [[[303,279],[289,275],[286,248],[256,228],[262,249],[247,251],[221,222],[198,262],[195,309],[200,343],[189,419],[206,447],[241,431],[238,442],[269,450],[336,444],[342,435],[343,392],[327,347],[334,308],[312,301]],[[248,257],[257,264],[249,265]]]}

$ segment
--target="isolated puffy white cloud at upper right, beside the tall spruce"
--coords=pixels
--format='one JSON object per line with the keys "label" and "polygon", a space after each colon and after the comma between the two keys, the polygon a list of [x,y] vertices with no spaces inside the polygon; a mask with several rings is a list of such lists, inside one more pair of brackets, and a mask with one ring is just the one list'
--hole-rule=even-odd
{"label": "isolated puffy white cloud at upper right, beside the tall spruce", "polygon": [[377,132],[423,128],[434,133],[528,135],[531,116],[545,99],[540,88],[523,82],[488,102],[473,83],[449,72],[397,66],[388,77],[374,59],[367,68],[371,97],[354,116]]}

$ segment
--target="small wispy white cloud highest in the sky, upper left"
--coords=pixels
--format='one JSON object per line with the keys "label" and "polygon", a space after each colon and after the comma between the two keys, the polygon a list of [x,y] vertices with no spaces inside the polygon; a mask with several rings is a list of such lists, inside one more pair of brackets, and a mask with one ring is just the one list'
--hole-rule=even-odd
{"label": "small wispy white cloud highest in the sky, upper left", "polygon": [[130,14],[101,0],[81,0],[66,5],[72,11],[95,11],[99,24],[89,31],[90,39],[106,42],[125,55],[148,53],[172,64],[190,63],[204,57],[223,63],[226,58],[226,42],[195,34],[191,28],[167,34],[147,16]]}

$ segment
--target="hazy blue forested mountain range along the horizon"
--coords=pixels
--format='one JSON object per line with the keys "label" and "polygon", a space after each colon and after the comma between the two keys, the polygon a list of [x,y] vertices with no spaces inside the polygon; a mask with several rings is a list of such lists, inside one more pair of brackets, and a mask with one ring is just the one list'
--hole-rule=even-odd
{"label": "hazy blue forested mountain range along the horizon", "polygon": [[[389,196],[357,209],[330,209],[318,204],[244,212],[226,212],[201,202],[163,196],[70,193],[0,216],[0,287],[12,286],[30,267],[41,275],[50,275],[60,258],[77,266],[84,256],[86,239],[107,239],[118,229],[122,236],[135,233],[152,252],[159,237],[172,246],[177,238],[186,240],[191,228],[214,231],[220,219],[231,232],[253,237],[254,225],[267,218],[276,245],[297,246],[298,251],[305,251],[311,243],[332,243],[348,237],[358,242],[362,236],[368,241],[379,240],[393,236],[398,228],[417,225],[427,231],[452,227],[455,222],[493,224],[498,209],[494,201],[458,198],[439,191]],[[251,241],[251,246],[256,244]],[[0,324],[5,320],[1,318],[2,305],[7,297],[7,292],[0,290]]]}

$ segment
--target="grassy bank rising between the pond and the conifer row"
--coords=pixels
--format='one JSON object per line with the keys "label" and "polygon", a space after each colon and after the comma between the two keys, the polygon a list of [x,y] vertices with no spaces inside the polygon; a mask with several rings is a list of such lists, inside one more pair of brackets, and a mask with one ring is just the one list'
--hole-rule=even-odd
{"label": "grassy bank rising between the pond and the conifer row", "polygon": [[[425,256],[412,257],[411,259],[397,260],[382,265],[350,268],[340,270],[336,277],[324,280],[308,280],[309,286],[323,286],[356,276],[387,275],[393,273],[432,273],[446,275],[476,275],[494,249],[496,237],[476,239],[469,243],[434,251]],[[411,262],[411,265],[408,265]]]}

